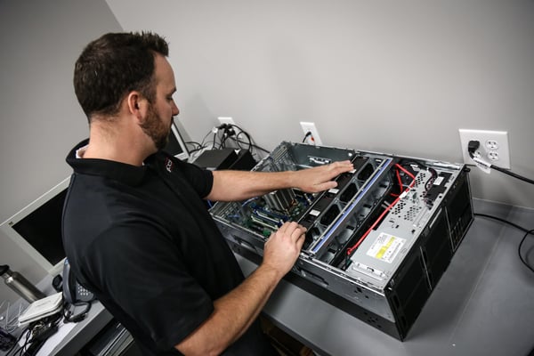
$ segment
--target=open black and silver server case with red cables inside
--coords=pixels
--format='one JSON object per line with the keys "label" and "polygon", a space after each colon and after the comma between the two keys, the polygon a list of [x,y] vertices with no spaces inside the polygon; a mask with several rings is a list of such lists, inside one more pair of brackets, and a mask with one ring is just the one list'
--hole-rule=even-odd
{"label": "open black and silver server case with red cables inside", "polygon": [[232,250],[261,263],[263,244],[286,221],[305,242],[286,279],[403,340],[473,222],[465,165],[281,142],[254,171],[299,170],[334,161],[354,169],[337,187],[276,190],[210,210]]}

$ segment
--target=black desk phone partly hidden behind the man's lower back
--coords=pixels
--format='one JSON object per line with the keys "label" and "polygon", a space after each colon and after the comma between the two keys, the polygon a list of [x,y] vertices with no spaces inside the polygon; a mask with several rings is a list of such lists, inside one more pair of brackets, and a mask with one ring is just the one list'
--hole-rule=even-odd
{"label": "black desk phone partly hidden behind the man's lower back", "polygon": [[[85,289],[76,280],[70,271],[69,260],[66,258],[63,264],[63,300],[65,301],[65,320],[77,322],[83,320],[89,309],[91,302],[95,299],[92,292]],[[85,306],[82,312],[74,313],[77,306]]]}

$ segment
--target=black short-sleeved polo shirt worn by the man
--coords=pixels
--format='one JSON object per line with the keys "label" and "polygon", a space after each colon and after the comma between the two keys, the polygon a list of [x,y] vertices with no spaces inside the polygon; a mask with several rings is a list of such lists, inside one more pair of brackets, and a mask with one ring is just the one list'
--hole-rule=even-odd
{"label": "black short-sleeved polo shirt worn by the man", "polygon": [[[77,279],[147,354],[175,344],[243,280],[202,198],[209,171],[158,152],[144,166],[76,158],[63,212],[63,243]],[[271,354],[258,323],[224,354]]]}

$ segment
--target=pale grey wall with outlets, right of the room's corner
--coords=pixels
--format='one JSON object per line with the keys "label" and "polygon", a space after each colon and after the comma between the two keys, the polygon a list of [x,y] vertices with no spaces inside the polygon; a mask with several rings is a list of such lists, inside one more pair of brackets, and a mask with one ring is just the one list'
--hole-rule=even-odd
{"label": "pale grey wall with outlets, right of the room's corner", "polygon": [[[171,43],[200,141],[234,117],[272,149],[314,121],[328,145],[461,162],[458,128],[506,130],[534,178],[530,0],[107,0],[125,30]],[[473,196],[534,207],[534,187],[473,170]]]}

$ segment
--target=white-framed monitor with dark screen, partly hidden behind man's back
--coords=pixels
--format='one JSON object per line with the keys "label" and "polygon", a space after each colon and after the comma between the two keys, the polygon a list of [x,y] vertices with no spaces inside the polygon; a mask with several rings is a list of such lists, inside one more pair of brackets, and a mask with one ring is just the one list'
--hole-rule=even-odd
{"label": "white-framed monitor with dark screen, partly hidden behind man's back", "polygon": [[61,273],[65,259],[61,215],[69,182],[70,177],[0,225],[4,235],[51,275]]}

